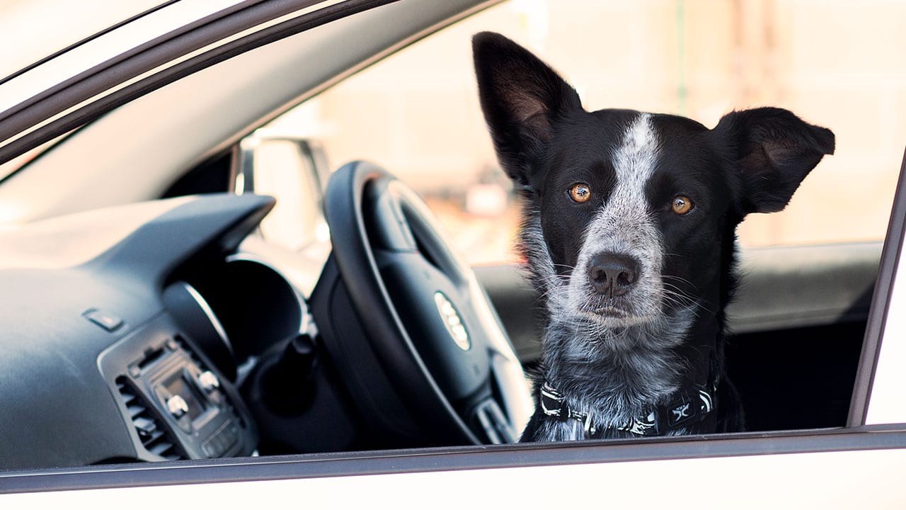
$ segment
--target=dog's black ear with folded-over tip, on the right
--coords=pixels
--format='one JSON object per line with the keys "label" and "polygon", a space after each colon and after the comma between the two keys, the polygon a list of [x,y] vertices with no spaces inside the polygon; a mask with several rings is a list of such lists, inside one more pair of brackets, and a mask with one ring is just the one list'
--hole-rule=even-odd
{"label": "dog's black ear with folded-over tip, on the right", "polygon": [[735,151],[744,214],[783,210],[824,154],[834,153],[831,130],[781,108],[728,113],[714,131]]}

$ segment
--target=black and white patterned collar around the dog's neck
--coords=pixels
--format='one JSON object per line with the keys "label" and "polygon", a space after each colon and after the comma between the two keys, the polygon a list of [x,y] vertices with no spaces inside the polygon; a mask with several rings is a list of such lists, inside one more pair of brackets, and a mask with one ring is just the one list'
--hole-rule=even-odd
{"label": "black and white patterned collar around the dog's neck", "polygon": [[541,387],[541,410],[548,417],[560,421],[576,420],[583,425],[586,438],[599,436],[605,430],[621,430],[635,436],[660,436],[671,430],[688,427],[704,420],[714,410],[714,399],[717,392],[717,380],[707,387],[695,387],[690,392],[683,392],[666,406],[654,407],[643,417],[635,417],[630,422],[617,427],[597,427],[591,413],[585,413],[569,407],[562,393],[554,389],[547,381]]}

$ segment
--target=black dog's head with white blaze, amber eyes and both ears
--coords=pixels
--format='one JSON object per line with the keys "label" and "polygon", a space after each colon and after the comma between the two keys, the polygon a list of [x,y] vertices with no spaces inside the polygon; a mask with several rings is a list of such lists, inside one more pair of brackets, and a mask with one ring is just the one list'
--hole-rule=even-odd
{"label": "black dog's head with white blaze, amber eyes and both ears", "polygon": [[714,129],[675,115],[589,113],[518,44],[481,33],[473,45],[499,162],[528,201],[533,270],[560,313],[605,328],[725,304],[720,275],[737,223],[782,210],[834,152],[832,132],[777,108],[729,113]]}

